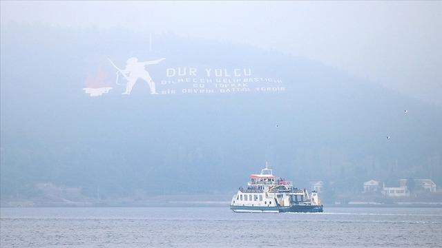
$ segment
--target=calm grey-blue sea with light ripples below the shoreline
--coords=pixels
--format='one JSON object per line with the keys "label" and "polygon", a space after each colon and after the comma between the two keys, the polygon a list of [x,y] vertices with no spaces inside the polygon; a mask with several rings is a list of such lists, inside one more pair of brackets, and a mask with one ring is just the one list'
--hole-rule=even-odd
{"label": "calm grey-blue sea with light ripples below the shoreline", "polygon": [[441,208],[1,208],[1,247],[442,247]]}

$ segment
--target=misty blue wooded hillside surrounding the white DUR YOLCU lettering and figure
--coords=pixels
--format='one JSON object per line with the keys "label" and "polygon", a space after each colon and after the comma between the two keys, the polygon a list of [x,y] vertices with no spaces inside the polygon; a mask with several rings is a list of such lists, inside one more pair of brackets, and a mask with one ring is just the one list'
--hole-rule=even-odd
{"label": "misty blue wooded hillside surrounding the white DUR YOLCU lettering and figure", "polygon": [[[38,195],[39,183],[91,197],[234,192],[265,161],[298,187],[442,184],[441,107],[273,50],[174,34],[153,35],[149,50],[149,40],[117,29],[2,27],[2,199]],[[138,83],[123,97],[106,58],[123,66],[131,56],[165,57],[152,75],[182,65],[253,68],[286,90],[153,96]],[[82,88],[99,68],[113,90],[94,98]]]}

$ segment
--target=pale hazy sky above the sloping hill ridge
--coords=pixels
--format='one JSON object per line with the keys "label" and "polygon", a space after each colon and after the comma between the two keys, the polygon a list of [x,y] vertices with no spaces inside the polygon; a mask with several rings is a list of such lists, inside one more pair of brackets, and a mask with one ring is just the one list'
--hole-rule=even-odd
{"label": "pale hazy sky above the sloping hill ridge", "polygon": [[1,1],[1,25],[11,21],[251,44],[442,105],[442,1]]}

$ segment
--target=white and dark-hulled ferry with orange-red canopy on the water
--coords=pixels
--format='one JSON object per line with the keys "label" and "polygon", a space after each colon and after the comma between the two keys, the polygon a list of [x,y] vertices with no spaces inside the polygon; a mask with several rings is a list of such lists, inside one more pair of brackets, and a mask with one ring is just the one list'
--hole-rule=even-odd
{"label": "white and dark-hulled ferry with orange-red canopy on the water", "polygon": [[230,209],[234,212],[305,212],[323,211],[318,192],[293,187],[293,183],[273,176],[272,169],[266,163],[261,174],[251,174],[247,188],[240,187],[233,196]]}

